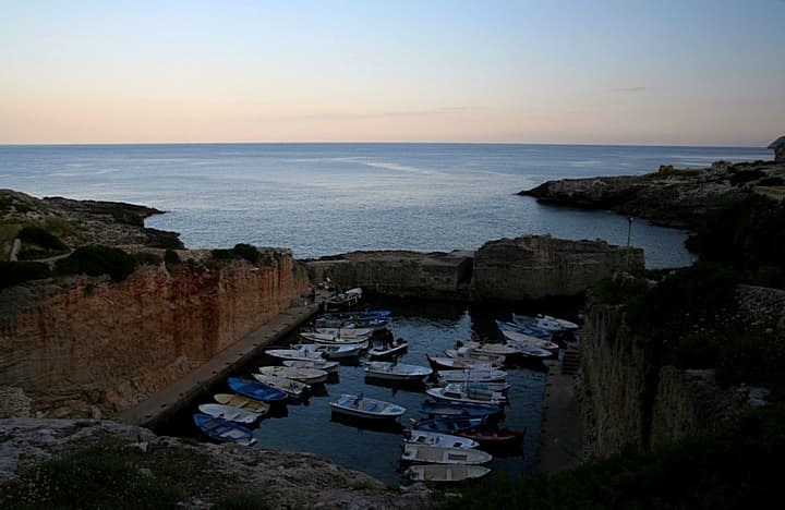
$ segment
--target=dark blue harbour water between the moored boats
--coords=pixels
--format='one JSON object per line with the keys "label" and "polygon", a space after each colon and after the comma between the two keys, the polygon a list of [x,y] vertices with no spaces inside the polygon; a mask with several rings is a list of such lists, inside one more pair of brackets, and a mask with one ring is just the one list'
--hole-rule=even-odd
{"label": "dark blue harbour water between the moored boats", "polygon": [[[478,307],[456,303],[420,302],[407,305],[400,302],[383,302],[374,303],[374,306],[391,309],[396,320],[390,329],[396,337],[409,341],[409,350],[399,359],[400,363],[422,366],[427,366],[425,354],[442,354],[445,349],[452,348],[456,341],[468,340],[472,329],[490,339],[500,339],[502,335],[494,319],[509,319],[512,311],[534,312],[522,307]],[[577,308],[568,303],[540,311],[573,318]],[[297,335],[291,335],[280,344],[288,345],[297,341]],[[409,425],[410,418],[424,417],[420,413],[420,405],[428,399],[424,392],[426,386],[396,386],[366,379],[362,367],[365,360],[363,355],[352,363],[342,363],[339,375],[330,376],[324,387],[315,387],[311,398],[302,403],[280,406],[253,424],[251,428],[255,429],[254,435],[258,442],[251,448],[318,453],[339,465],[366,472],[385,483],[401,482],[401,432],[403,426]],[[251,374],[256,372],[258,366],[275,364],[278,364],[275,359],[259,355],[234,375],[252,378]],[[494,470],[515,474],[530,472],[535,465],[545,369],[544,365],[507,368],[507,380],[512,387],[507,392],[509,404],[505,408],[499,426],[526,429],[527,435],[519,450],[493,451],[494,460],[488,465]],[[230,391],[225,382],[209,388],[190,409],[159,426],[156,432],[206,440],[193,424],[191,415],[198,404],[213,401],[213,393],[224,391]],[[329,402],[341,393],[363,393],[395,402],[407,408],[407,412],[398,424],[379,425],[343,418],[333,414],[329,408]]]}

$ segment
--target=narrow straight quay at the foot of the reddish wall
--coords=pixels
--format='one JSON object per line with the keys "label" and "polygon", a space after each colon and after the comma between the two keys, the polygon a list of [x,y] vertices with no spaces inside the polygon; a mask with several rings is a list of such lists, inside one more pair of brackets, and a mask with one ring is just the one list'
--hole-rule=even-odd
{"label": "narrow straight quay at the foot of the reddish wall", "polygon": [[290,307],[178,381],[156,391],[134,408],[123,411],[117,418],[132,425],[153,427],[172,417],[195,399],[204,397],[205,388],[225,379],[257,355],[263,348],[275,343],[313,317],[328,295],[329,293],[319,291],[315,303]]}

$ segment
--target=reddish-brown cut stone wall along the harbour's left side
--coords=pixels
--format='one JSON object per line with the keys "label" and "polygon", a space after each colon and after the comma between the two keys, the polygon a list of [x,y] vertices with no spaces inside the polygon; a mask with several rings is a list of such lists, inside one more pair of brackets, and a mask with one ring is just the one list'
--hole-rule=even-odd
{"label": "reddish-brown cut stone wall along the harbour's left side", "polygon": [[[198,257],[180,252],[182,259]],[[269,265],[145,266],[0,292],[0,386],[47,416],[114,414],[233,344],[306,292],[288,251]]]}

